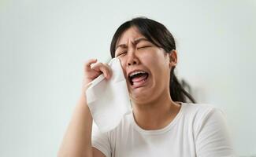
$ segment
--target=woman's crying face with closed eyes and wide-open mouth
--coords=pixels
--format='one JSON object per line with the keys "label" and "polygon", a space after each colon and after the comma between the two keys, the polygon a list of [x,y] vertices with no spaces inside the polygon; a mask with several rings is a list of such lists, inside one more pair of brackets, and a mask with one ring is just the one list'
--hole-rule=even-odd
{"label": "woman's crying face with closed eyes and wide-open mouth", "polygon": [[170,53],[149,42],[136,27],[121,35],[115,57],[121,60],[132,101],[147,103],[161,94],[169,95],[170,69],[176,63],[169,60]]}

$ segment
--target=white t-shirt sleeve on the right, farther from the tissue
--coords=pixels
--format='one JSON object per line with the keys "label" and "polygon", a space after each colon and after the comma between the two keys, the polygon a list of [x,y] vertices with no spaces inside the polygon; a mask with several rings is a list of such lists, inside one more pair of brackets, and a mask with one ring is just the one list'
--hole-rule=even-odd
{"label": "white t-shirt sleeve on the right, farther from the tissue", "polygon": [[236,156],[228,134],[224,112],[210,108],[201,117],[195,131],[195,148],[198,157]]}

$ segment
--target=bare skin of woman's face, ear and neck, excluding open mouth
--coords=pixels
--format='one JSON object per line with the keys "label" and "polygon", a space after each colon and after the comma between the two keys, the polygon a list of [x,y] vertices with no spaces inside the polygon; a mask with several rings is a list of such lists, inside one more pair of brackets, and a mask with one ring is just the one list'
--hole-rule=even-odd
{"label": "bare skin of woman's face, ear and neck, excluding open mouth", "polygon": [[[180,111],[180,104],[173,102],[169,94],[169,74],[177,63],[176,50],[165,53],[164,49],[139,38],[145,37],[136,27],[124,31],[117,41],[116,57],[121,60],[126,76],[135,121],[144,130],[158,130]],[[128,73],[134,70],[149,74],[147,82],[139,88],[133,88],[128,81]]]}

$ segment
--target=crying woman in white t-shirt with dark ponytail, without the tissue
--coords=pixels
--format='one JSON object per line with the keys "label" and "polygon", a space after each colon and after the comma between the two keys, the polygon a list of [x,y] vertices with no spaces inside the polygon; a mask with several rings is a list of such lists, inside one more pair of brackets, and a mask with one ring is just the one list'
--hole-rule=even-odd
{"label": "crying woman in white t-shirt with dark ponytail, without the tissue", "polygon": [[176,45],[164,25],[143,17],[129,20],[117,29],[110,51],[121,61],[132,114],[114,130],[100,133],[95,128],[91,134],[86,85],[101,73],[109,79],[111,70],[88,60],[80,101],[59,156],[235,156],[222,112],[186,103],[195,100],[173,73]]}

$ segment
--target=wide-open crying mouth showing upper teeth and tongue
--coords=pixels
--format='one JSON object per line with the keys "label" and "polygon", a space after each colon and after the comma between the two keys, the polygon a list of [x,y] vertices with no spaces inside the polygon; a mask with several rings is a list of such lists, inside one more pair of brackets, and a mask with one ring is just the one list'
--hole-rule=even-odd
{"label": "wide-open crying mouth showing upper teeth and tongue", "polygon": [[131,85],[140,85],[145,82],[148,78],[148,73],[145,71],[135,71],[128,76]]}

